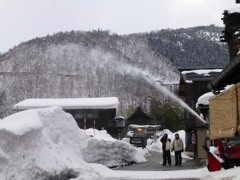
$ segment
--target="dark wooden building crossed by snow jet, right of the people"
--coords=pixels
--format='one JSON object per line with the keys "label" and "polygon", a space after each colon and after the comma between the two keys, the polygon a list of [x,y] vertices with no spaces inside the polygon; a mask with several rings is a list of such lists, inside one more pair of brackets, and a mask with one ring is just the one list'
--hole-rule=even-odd
{"label": "dark wooden building crossed by snow jet, right of the people", "polygon": [[[216,78],[222,69],[195,69],[181,70],[179,83],[179,96],[194,111],[198,98],[209,92],[208,84]],[[199,113],[200,114],[200,113]],[[192,152],[194,158],[206,158],[207,154],[202,148],[207,128],[198,118],[185,111],[186,151]]]}

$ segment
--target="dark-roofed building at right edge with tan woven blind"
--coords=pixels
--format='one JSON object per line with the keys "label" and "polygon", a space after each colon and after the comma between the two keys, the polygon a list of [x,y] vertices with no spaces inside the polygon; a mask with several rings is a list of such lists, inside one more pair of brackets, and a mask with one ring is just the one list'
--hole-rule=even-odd
{"label": "dark-roofed building at right edge with tan woven blind", "polygon": [[[235,136],[239,133],[239,128],[235,130],[231,128],[231,132],[227,132],[227,126],[238,126],[239,125],[239,82],[240,82],[240,10],[239,8],[232,9],[229,11],[224,11],[224,17],[222,18],[225,29],[223,31],[223,36],[221,36],[222,42],[228,43],[228,50],[230,56],[230,63],[223,69],[221,74],[210,83],[212,91],[217,94],[215,99],[211,99],[209,102],[210,112],[215,112],[216,115],[224,114],[221,118],[215,118],[214,114],[210,117],[210,130],[211,125],[214,121],[217,122],[215,125],[218,125],[219,129],[225,128],[222,134],[210,132],[210,137],[221,138],[227,136]],[[227,85],[234,85],[228,90],[221,92]],[[218,106],[221,102],[221,98],[224,97],[224,104]],[[227,98],[226,98],[227,97]],[[217,104],[214,104],[215,101]],[[220,108],[219,108],[220,107]],[[218,113],[221,111],[220,113]],[[211,113],[210,113],[211,114]],[[221,121],[222,120],[222,121]],[[217,129],[217,128],[216,128]],[[233,133],[234,135],[230,135]]]}

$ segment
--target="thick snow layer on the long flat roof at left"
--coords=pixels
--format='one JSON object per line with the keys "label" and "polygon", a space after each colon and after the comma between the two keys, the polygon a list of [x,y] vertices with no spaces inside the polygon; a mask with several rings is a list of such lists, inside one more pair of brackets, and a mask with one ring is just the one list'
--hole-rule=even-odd
{"label": "thick snow layer on the long flat roof at left", "polygon": [[117,109],[117,97],[104,98],[62,98],[62,99],[25,99],[14,109],[35,109],[60,106],[62,109]]}

